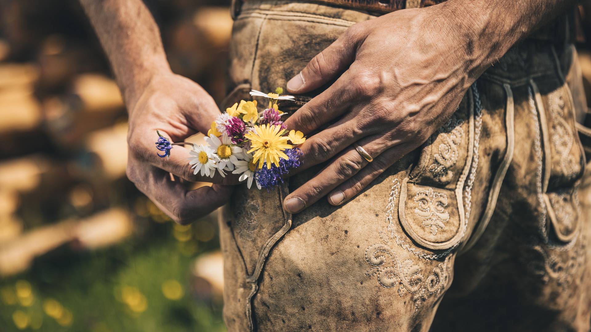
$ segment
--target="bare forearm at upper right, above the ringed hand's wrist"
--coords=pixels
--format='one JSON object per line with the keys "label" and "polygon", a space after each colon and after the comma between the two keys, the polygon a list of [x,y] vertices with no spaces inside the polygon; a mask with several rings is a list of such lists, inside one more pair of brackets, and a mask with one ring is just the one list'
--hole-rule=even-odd
{"label": "bare forearm at upper right, above the ringed hand's wrist", "polygon": [[506,53],[576,0],[449,0],[442,15],[462,38],[468,75],[475,79]]}

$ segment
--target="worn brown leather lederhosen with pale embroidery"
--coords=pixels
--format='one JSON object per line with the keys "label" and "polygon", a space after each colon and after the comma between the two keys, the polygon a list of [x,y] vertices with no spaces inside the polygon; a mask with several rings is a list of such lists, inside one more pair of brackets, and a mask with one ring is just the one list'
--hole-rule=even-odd
{"label": "worn brown leather lederhosen with pale embroidery", "polygon": [[[371,18],[247,2],[233,27],[228,103],[285,86]],[[533,40],[513,48],[421,148],[343,206],[282,210],[322,165],[274,191],[240,186],[220,217],[228,330],[589,330],[591,191],[573,54]]]}

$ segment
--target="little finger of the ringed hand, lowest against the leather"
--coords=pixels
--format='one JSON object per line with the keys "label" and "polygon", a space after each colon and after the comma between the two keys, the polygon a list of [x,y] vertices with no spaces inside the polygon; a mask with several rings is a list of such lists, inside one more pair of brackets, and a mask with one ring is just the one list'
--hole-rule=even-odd
{"label": "little finger of the ringed hand, lowest against the leather", "polygon": [[336,187],[335,190],[329,194],[329,203],[338,206],[355,197],[363,190],[363,188],[371,184],[375,178],[394,164],[394,162],[397,162],[400,158],[404,157],[404,155],[407,155],[414,149],[414,145],[409,143],[402,143],[389,148],[387,151],[379,155],[379,157],[374,158],[374,161],[370,162],[363,168],[363,170]]}

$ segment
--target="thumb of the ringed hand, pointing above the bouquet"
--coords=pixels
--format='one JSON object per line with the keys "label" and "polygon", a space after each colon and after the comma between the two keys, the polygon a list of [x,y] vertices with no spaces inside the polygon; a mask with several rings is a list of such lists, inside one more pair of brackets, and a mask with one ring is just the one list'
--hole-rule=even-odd
{"label": "thumb of the ringed hand, pointing above the bouquet", "polygon": [[287,82],[287,90],[291,93],[308,92],[345,71],[355,60],[356,52],[356,35],[349,31],[316,54],[300,73]]}

